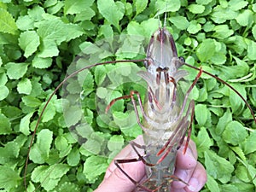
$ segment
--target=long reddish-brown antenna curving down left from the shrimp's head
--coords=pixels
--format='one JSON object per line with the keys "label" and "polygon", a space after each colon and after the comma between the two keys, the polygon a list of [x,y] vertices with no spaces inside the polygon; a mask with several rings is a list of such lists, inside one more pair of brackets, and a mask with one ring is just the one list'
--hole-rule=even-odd
{"label": "long reddish-brown antenna curving down left from the shrimp's head", "polygon": [[106,65],[106,64],[110,64],[110,63],[117,63],[117,62],[142,62],[142,61],[145,61],[145,60],[119,60],[119,61],[105,61],[105,62],[100,62],[100,63],[96,63],[94,65],[90,65],[90,66],[87,66],[87,67],[83,67],[81,69],[79,69],[78,71],[75,71],[74,73],[71,73],[70,75],[67,76],[67,78],[63,79],[63,81],[61,81],[61,84],[59,84],[55,90],[52,92],[52,94],[49,96],[49,99],[48,101],[45,103],[44,105],[44,108],[42,110],[42,112],[39,114],[39,117],[38,117],[38,121],[37,121],[37,124],[36,124],[36,127],[35,127],[35,130],[33,131],[32,133],[32,139],[31,139],[31,142],[29,144],[29,148],[28,148],[28,153],[27,153],[27,156],[26,156],[26,165],[25,165],[25,170],[24,170],[24,186],[25,186],[25,189],[27,191],[27,188],[26,188],[26,172],[27,172],[27,166],[28,166],[28,160],[29,160],[29,154],[30,154],[30,151],[31,151],[31,148],[32,148],[32,143],[34,141],[34,138],[35,138],[35,135],[36,135],[36,132],[38,130],[38,125],[43,117],[43,114],[44,114],[44,111],[45,109],[47,108],[50,100],[52,99],[53,96],[55,96],[55,93],[57,92],[57,90],[59,90],[61,88],[61,86],[67,81],[67,79],[70,79],[72,78],[74,75],[84,71],[85,69],[89,69],[90,67],[96,67],[96,66],[101,66],[101,65]]}

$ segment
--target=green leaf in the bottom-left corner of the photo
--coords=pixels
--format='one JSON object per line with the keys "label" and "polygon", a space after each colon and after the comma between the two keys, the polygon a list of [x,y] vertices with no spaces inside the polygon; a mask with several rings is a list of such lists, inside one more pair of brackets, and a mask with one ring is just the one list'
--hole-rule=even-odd
{"label": "green leaf in the bottom-left corner of the photo", "polygon": [[0,186],[2,189],[6,189],[6,191],[15,190],[20,183],[20,176],[18,172],[13,170],[9,166],[0,166]]}

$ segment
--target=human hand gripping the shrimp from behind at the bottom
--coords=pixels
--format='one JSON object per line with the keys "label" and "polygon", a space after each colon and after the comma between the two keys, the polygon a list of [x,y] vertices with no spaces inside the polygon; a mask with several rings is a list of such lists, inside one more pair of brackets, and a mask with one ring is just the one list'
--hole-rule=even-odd
{"label": "human hand gripping the shrimp from behind at the bottom", "polygon": [[[137,137],[136,143],[142,143],[142,136]],[[193,141],[189,141],[189,147],[186,154],[183,154],[183,146],[177,151],[175,175],[185,183],[172,182],[173,192],[198,192],[207,182],[207,172],[201,163],[197,162],[197,151]],[[127,145],[115,159],[129,159],[131,154],[134,157],[134,151],[131,145]],[[145,168],[142,161],[119,164],[122,169],[134,180],[140,181],[145,177]],[[108,166],[104,180],[94,192],[131,192],[136,189],[134,183],[119,171],[114,162]]]}

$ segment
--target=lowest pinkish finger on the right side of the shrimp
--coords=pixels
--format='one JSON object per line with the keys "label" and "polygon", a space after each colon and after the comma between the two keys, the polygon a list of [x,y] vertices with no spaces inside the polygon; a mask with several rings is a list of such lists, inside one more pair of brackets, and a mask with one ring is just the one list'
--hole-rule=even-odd
{"label": "lowest pinkish finger on the right side of the shrimp", "polygon": [[189,180],[189,186],[185,187],[186,192],[198,192],[207,183],[207,171],[201,165],[197,163],[195,167],[195,172],[193,172],[192,177]]}

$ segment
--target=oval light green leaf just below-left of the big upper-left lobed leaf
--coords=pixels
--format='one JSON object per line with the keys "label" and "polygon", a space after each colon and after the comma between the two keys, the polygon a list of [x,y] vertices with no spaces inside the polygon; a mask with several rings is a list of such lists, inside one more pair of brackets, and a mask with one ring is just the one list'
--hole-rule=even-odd
{"label": "oval light green leaf just below-left of the big upper-left lobed leaf", "polygon": [[40,39],[37,32],[26,31],[20,33],[19,45],[20,48],[25,51],[24,55],[26,56],[26,58],[36,52],[39,44]]}

